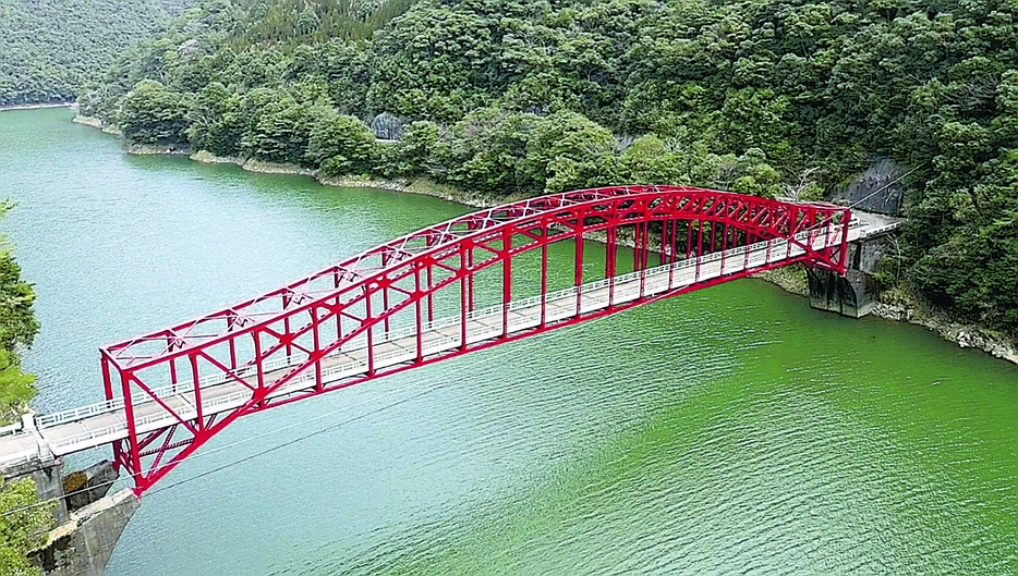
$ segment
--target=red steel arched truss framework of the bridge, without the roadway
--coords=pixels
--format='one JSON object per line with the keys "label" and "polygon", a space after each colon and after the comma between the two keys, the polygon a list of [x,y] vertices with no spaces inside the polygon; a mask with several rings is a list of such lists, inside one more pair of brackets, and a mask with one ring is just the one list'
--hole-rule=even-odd
{"label": "red steel arched truss framework of the bridge, without the roadway", "polygon": [[[445,358],[540,334],[562,326],[656,302],[664,297],[699,290],[719,282],[742,278],[749,273],[785,266],[792,261],[805,261],[810,266],[823,267],[844,273],[847,264],[847,234],[850,213],[848,209],[826,204],[798,205],[737,195],[703,188],[682,186],[628,186],[593,188],[571,193],[521,200],[502,207],[482,210],[448,222],[435,224],[422,231],[397,238],[376,248],[354,256],[343,262],[311,274],[279,290],[235,304],[223,311],[213,312],[197,319],[153,332],[124,342],[106,346],[102,354],[104,389],[108,400],[116,400],[117,390],[112,382],[114,372],[120,375],[120,392],[124,402],[129,436],[114,443],[114,459],[135,475],[135,491],[142,493],[162,478],[170,469],[201,448],[208,439],[229,426],[238,417],[254,414],[277,405],[311,395],[347,388],[383,376],[425,366]],[[668,290],[663,294],[645,295],[645,271],[651,253],[651,229],[653,222],[661,224],[661,264],[675,264],[680,257],[678,249],[679,223],[686,221],[686,257],[695,256],[695,282],[690,286]],[[656,225],[656,224],[655,224]],[[693,226],[696,228],[695,245]],[[704,242],[704,225],[710,236]],[[615,303],[615,275],[618,250],[618,229],[633,228],[633,268],[641,271],[640,297],[623,304]],[[797,244],[804,254],[772,262],[769,244],[766,262],[762,267],[724,273],[722,260],[720,278],[700,281],[702,258],[715,250],[718,228],[720,249],[746,246],[748,262],[749,245],[752,240],[787,240],[789,246]],[[585,235],[604,231],[607,240],[605,278],[608,282],[608,307],[589,314],[580,314],[581,286],[584,281],[583,242]],[[809,232],[809,240],[799,241],[795,235]],[[837,241],[833,233],[840,232]],[[825,248],[817,250],[813,240],[824,234]],[[729,235],[731,242],[729,242]],[[740,241],[741,238],[741,241]],[[509,332],[509,304],[512,302],[513,259],[533,249],[541,250],[541,295],[548,287],[548,246],[556,242],[574,242],[572,284],[577,286],[575,314],[566,320],[547,322],[546,302],[540,298],[541,320],[536,328],[523,332]],[[519,242],[517,242],[519,241]],[[513,243],[517,242],[514,245]],[[484,258],[475,260],[473,248],[484,249]],[[707,252],[705,252],[705,248]],[[790,248],[789,248],[790,249]],[[501,266],[501,330],[494,341],[468,344],[468,315],[474,310],[474,279],[477,273],[493,266]],[[669,270],[671,286],[674,270]],[[323,284],[319,280],[326,282]],[[401,287],[400,281],[410,282],[412,287]],[[460,344],[438,356],[425,356],[422,333],[426,322],[435,319],[436,293],[444,289],[455,290],[459,284]],[[391,289],[391,291],[390,291]],[[377,301],[373,297],[380,292]],[[390,296],[396,294],[396,298]],[[380,301],[380,302],[379,302]],[[278,306],[276,305],[278,303]],[[381,309],[378,309],[380,305]],[[274,306],[276,306],[274,308]],[[363,315],[359,311],[363,308]],[[268,311],[266,311],[266,309]],[[375,336],[377,329],[390,331],[395,315],[412,314],[415,329],[416,354],[412,361],[400,366],[378,368],[375,363]],[[353,323],[343,326],[343,318]],[[335,320],[334,320],[335,319]],[[335,332],[325,333],[322,328],[332,326]],[[221,330],[215,327],[221,322]],[[281,323],[281,330],[278,328]],[[331,329],[330,329],[331,330]],[[197,332],[205,332],[194,336]],[[242,346],[241,339],[251,339],[252,357],[238,364]],[[324,381],[322,360],[328,354],[338,353],[354,339],[366,339],[366,364],[364,375],[339,383]],[[388,338],[388,336],[386,336]],[[266,340],[263,343],[263,339]],[[303,339],[303,340],[302,340]],[[310,341],[310,342],[308,342]],[[152,352],[155,342],[161,350]],[[216,359],[217,346],[228,346],[229,366]],[[143,351],[143,348],[146,348]],[[245,350],[245,348],[244,348]],[[287,369],[282,376],[267,377],[266,366],[276,361],[280,353],[286,354]],[[246,353],[245,353],[246,354]],[[223,380],[237,380],[251,389],[251,397],[243,405],[206,421],[203,414],[203,383],[198,358],[204,357],[213,373]],[[296,358],[296,366],[289,363]],[[169,372],[173,384],[177,380],[177,360],[186,358],[191,363],[193,391],[197,417],[186,421],[177,414],[144,381],[149,373]],[[226,360],[223,360],[226,361]],[[253,368],[256,382],[251,376],[238,372],[241,368]],[[278,365],[277,365],[278,366]],[[308,372],[310,371],[310,372]],[[295,396],[269,399],[269,394],[287,384],[301,373],[313,373],[314,385],[302,388]],[[270,381],[269,381],[270,380]],[[138,439],[134,418],[135,391],[150,396],[166,413],[173,416],[172,430],[161,448],[146,450],[148,442]],[[217,419],[218,416],[218,419]],[[183,425],[183,426],[180,426]],[[158,432],[158,431],[157,431]],[[155,433],[155,432],[154,432]],[[173,440],[174,434],[182,436]],[[155,433],[152,438],[156,438]],[[148,467],[143,455],[155,454]]]}

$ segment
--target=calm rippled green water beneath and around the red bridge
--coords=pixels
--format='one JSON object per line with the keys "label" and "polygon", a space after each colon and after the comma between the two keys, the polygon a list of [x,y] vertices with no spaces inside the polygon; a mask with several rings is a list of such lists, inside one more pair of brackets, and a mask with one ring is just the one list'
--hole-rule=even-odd
{"label": "calm rippled green water beneath and around the red bridge", "polygon": [[[129,157],[70,119],[0,112],[40,410],[101,399],[100,344],[465,211]],[[1018,367],[758,281],[244,418],[199,454],[107,574],[1018,574]]]}

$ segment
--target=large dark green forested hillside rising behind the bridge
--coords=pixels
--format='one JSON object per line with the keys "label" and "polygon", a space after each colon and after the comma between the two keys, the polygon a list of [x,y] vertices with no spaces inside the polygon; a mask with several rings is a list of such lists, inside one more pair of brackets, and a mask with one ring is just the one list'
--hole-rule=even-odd
{"label": "large dark green forested hillside rising behind the bridge", "polygon": [[135,144],[490,195],[815,198],[888,157],[887,285],[1018,333],[1016,26],[1014,0],[216,0],[82,105]]}

